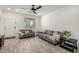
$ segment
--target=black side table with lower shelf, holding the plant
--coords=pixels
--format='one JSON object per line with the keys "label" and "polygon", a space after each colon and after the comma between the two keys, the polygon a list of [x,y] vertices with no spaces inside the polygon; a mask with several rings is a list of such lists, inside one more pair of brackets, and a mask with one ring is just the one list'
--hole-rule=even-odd
{"label": "black side table with lower shelf, holding the plant", "polygon": [[63,38],[60,46],[74,52],[74,49],[77,49],[77,40],[72,38]]}

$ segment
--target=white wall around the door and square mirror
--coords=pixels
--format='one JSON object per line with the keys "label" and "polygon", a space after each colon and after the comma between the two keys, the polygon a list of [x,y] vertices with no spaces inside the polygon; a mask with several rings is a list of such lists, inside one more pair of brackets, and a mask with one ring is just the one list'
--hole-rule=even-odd
{"label": "white wall around the door and square mirror", "polygon": [[[8,19],[11,19],[12,21],[15,21],[16,25],[16,34],[18,33],[18,30],[20,29],[26,29],[25,28],[25,23],[24,23],[24,18],[29,17],[29,18],[34,18],[35,19],[35,27],[32,28],[34,31],[40,30],[40,16],[35,16],[35,15],[26,15],[26,14],[21,14],[21,13],[15,13],[15,12],[9,12],[9,11],[1,11],[0,12],[0,34],[4,34],[4,25],[5,25],[5,20],[8,21]],[[7,26],[7,24],[6,24]],[[11,25],[7,26],[10,27]],[[10,29],[9,29],[10,30]]]}

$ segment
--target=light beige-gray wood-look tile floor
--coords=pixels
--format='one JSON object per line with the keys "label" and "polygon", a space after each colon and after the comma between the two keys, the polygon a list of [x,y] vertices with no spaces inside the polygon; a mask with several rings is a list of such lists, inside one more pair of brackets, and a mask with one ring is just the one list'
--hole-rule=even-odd
{"label": "light beige-gray wood-look tile floor", "polygon": [[[76,51],[78,52],[78,51]],[[0,53],[71,53],[70,51],[54,46],[38,37],[26,39],[6,39]]]}

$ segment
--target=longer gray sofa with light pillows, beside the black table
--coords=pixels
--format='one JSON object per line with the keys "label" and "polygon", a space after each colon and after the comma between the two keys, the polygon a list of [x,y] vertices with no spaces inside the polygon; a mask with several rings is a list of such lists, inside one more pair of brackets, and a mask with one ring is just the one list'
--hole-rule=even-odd
{"label": "longer gray sofa with light pillows, beside the black table", "polygon": [[[55,35],[53,35],[55,32],[57,32],[58,38],[56,38]],[[37,36],[45,41],[48,41],[54,45],[57,45],[60,43],[60,36],[62,35],[62,32],[59,31],[51,31],[51,30],[45,30],[44,32],[37,32]]]}

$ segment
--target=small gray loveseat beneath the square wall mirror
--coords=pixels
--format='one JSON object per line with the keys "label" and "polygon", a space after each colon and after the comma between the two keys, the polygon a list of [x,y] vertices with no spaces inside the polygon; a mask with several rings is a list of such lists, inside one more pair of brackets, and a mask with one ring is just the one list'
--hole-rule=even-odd
{"label": "small gray loveseat beneath the square wall mirror", "polygon": [[18,34],[20,39],[35,37],[35,32],[30,29],[21,29]]}

